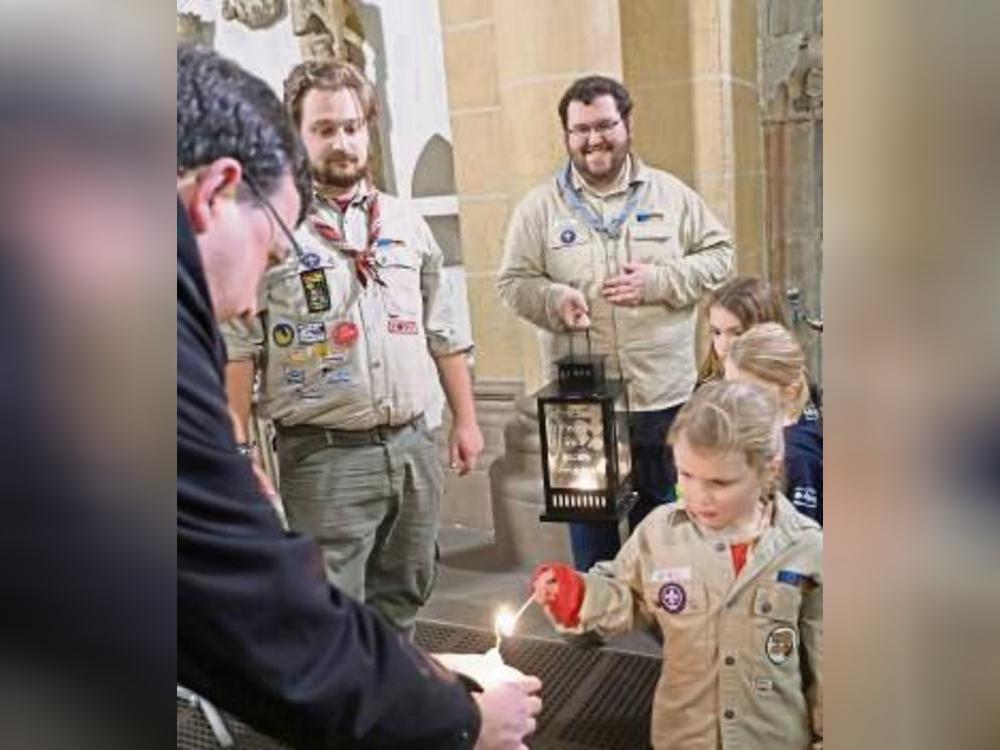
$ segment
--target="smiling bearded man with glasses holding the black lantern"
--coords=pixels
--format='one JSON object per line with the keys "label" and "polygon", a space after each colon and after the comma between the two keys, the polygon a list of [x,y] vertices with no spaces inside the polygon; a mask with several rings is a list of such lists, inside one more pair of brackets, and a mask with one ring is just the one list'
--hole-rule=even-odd
{"label": "smiling bearded man with glasses holding the black lantern", "polygon": [[[548,334],[547,365],[589,329],[609,375],[627,382],[635,528],[673,496],[666,433],[694,390],[696,306],[731,274],[733,247],[691,188],[631,153],[632,100],[618,81],[575,81],[559,117],[569,162],[514,209],[500,297]],[[573,523],[570,538],[580,570],[619,547],[614,524]]]}

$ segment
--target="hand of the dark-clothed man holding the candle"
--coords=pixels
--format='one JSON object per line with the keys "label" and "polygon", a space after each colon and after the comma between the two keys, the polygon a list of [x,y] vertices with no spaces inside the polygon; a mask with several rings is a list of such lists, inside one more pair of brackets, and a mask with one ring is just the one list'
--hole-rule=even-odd
{"label": "hand of the dark-clothed man holding the candle", "polygon": [[535,731],[535,717],[542,710],[536,693],[541,689],[541,680],[528,677],[473,693],[482,714],[475,750],[528,750],[524,738]]}

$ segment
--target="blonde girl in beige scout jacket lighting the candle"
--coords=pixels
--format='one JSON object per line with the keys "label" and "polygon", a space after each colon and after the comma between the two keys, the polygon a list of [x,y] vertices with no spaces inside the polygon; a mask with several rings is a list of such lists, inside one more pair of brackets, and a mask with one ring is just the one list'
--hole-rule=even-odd
{"label": "blonde girl in beige scout jacket lighting the candle", "polygon": [[708,383],[669,442],[683,506],[654,510],[586,575],[541,566],[535,599],[567,633],[658,623],[657,750],[821,748],[823,536],[777,489],[777,404],[752,383]]}

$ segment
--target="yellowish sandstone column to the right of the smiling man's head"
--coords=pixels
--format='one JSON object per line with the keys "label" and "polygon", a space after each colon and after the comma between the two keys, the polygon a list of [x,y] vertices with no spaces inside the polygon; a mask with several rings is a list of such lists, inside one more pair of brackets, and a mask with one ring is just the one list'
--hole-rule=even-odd
{"label": "yellowish sandstone column to the right of the smiling man's head", "polygon": [[621,0],[636,152],[694,188],[766,275],[756,0]]}

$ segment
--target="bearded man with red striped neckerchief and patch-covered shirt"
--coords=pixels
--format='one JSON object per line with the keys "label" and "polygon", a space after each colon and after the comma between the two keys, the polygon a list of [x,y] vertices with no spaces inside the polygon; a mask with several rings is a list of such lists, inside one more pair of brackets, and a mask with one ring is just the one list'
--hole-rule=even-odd
{"label": "bearded man with red striped neckerchief and patch-covered shirt", "polygon": [[255,360],[278,434],[289,524],[323,548],[330,579],[412,632],[434,582],[442,475],[423,418],[428,355],[452,410],[452,467],[482,452],[463,336],[426,222],[369,176],[377,100],[353,65],[306,62],[285,104],[315,197],[296,252],[262,284],[258,325],[227,335],[227,389],[244,429]]}

